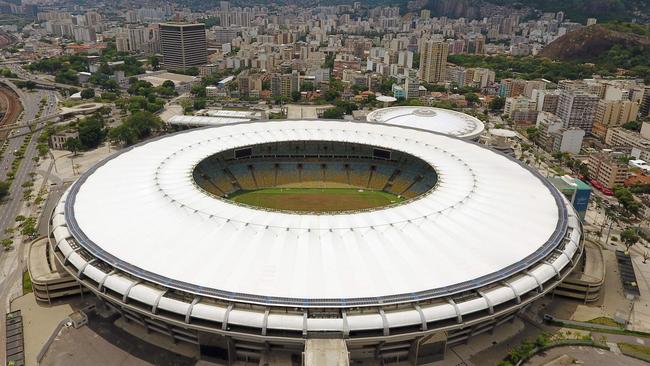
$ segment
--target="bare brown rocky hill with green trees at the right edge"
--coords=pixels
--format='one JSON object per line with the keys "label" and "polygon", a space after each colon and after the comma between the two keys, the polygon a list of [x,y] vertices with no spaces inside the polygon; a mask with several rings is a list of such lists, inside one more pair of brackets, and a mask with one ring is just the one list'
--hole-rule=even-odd
{"label": "bare brown rocky hill with green trees at the right edge", "polygon": [[546,46],[540,56],[559,61],[589,62],[650,80],[650,32],[647,26],[614,23],[593,25],[566,34]]}

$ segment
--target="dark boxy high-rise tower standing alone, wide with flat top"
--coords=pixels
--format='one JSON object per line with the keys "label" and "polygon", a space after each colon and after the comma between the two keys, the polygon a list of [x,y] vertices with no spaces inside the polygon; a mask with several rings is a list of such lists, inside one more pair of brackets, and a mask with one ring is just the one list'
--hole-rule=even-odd
{"label": "dark boxy high-rise tower standing alone, wide with flat top", "polygon": [[160,24],[160,44],[167,69],[186,69],[208,63],[205,25]]}

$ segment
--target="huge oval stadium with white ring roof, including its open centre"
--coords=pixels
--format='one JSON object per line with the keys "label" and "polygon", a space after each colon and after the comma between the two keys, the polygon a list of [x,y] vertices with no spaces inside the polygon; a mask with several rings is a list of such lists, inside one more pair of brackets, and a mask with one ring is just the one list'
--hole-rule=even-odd
{"label": "huge oval stadium with white ring roof, including its open centre", "polygon": [[50,232],[106,306],[224,363],[300,364],[323,349],[440,360],[552,291],[582,253],[569,202],[519,161],[431,130],[331,120],[125,149],[69,188]]}

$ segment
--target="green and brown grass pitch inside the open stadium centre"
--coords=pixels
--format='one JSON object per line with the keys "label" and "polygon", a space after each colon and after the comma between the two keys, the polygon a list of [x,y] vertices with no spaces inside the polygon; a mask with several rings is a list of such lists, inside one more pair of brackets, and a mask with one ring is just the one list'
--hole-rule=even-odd
{"label": "green and brown grass pitch inside the open stadium centre", "polygon": [[267,188],[239,191],[229,199],[251,206],[300,212],[335,212],[387,206],[404,198],[358,188]]}

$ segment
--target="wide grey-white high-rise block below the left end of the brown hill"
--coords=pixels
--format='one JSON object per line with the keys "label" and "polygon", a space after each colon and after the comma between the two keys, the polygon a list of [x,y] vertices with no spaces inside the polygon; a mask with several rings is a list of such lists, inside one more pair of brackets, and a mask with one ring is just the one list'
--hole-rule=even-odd
{"label": "wide grey-white high-rise block below the left end of the brown hill", "polygon": [[578,127],[591,132],[596,115],[598,97],[580,90],[562,90],[557,105],[557,115],[564,128]]}

